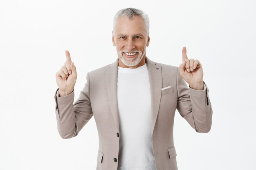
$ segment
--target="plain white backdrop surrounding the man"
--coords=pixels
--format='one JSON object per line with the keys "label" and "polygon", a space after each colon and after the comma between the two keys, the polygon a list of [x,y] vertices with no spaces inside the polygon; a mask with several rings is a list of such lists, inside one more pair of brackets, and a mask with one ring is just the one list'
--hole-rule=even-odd
{"label": "plain white backdrop surrounding the man", "polygon": [[55,73],[69,50],[76,100],[86,73],[117,59],[112,19],[128,7],[150,18],[150,60],[179,66],[186,46],[203,67],[213,124],[197,133],[176,111],[179,170],[255,170],[254,0],[0,0],[0,169],[96,169],[94,117],[72,139],[58,134]]}

